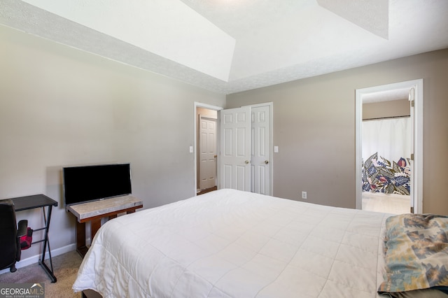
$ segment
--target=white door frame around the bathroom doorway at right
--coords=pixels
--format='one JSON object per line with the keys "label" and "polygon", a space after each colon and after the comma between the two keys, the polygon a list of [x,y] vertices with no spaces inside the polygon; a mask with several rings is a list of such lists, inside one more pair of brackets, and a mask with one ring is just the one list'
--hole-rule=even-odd
{"label": "white door frame around the bathroom doorway at right", "polygon": [[362,122],[363,122],[363,95],[373,93],[397,90],[403,88],[414,87],[414,213],[423,212],[423,79],[408,80],[400,83],[392,83],[388,85],[379,85],[374,87],[367,87],[363,89],[356,89],[355,101],[355,166],[356,166],[356,208],[362,209]]}

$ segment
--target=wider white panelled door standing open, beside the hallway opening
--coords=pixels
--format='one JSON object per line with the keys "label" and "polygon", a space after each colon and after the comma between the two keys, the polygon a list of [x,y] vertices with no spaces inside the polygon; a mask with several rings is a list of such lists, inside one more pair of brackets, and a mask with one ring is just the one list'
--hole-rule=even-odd
{"label": "wider white panelled door standing open, beside the hallway opening", "polygon": [[251,108],[220,113],[221,188],[251,190]]}

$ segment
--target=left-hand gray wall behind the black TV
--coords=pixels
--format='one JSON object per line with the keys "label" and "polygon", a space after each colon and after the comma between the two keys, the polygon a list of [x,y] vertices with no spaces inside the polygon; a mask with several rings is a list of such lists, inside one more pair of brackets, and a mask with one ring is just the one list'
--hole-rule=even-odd
{"label": "left-hand gray wall behind the black TV", "polygon": [[[6,27],[0,40],[0,198],[43,193],[59,202],[54,253],[75,243],[62,166],[130,162],[145,208],[195,194],[194,102],[224,106],[225,95]],[[35,228],[41,214],[18,218]]]}

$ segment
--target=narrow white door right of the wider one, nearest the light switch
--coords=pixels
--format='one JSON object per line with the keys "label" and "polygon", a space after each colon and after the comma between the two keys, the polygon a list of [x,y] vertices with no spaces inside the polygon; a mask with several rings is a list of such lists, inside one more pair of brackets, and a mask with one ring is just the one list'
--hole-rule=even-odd
{"label": "narrow white door right of the wider one, nearest the light switch", "polygon": [[270,194],[270,107],[251,108],[251,192]]}

